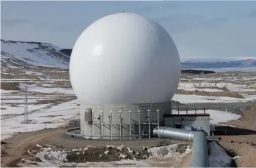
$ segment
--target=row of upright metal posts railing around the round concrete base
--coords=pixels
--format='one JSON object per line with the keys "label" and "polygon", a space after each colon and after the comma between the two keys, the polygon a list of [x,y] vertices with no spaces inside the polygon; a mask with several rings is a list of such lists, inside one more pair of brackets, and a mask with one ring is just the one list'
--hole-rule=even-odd
{"label": "row of upright metal posts railing around the round concrete base", "polygon": [[[84,124],[88,125],[89,127],[91,127],[91,135],[84,135],[84,136],[100,136],[101,138],[103,137],[110,137],[110,139],[112,139],[113,137],[120,137],[120,139],[122,139],[122,137],[127,137],[128,135],[124,135],[122,133],[123,128],[124,127],[129,127],[126,129],[129,129],[129,137],[132,140],[132,137],[134,137],[134,133],[132,134],[132,132],[134,131],[134,128],[132,129],[132,125],[134,125],[134,127],[136,125],[139,125],[139,134],[136,135],[136,137],[141,138],[142,136],[145,137],[146,135],[148,136],[148,138],[151,138],[151,132],[152,132],[152,127],[153,126],[160,126],[160,110],[155,110],[153,111],[155,112],[155,116],[152,116],[152,112],[151,110],[147,110],[147,111],[143,111],[141,112],[141,110],[138,111],[133,111],[131,112],[131,110],[129,111],[119,111],[119,112],[113,112],[110,111],[110,113],[108,114],[107,112],[103,112],[103,110],[98,110],[98,113],[96,114],[94,110],[91,111],[91,122],[84,122]],[[146,113],[146,115],[145,115]],[[131,115],[138,115],[138,120],[136,122],[134,122],[134,120],[131,118]],[[108,115],[108,122],[104,122],[105,118],[103,115]],[[118,117],[114,117],[114,115],[118,115]],[[145,117],[145,119],[141,119],[141,115],[143,115],[143,117]],[[87,115],[85,115],[87,116]],[[105,116],[106,117],[106,116]],[[104,118],[104,119],[103,119]],[[115,119],[113,121],[113,119]],[[85,119],[88,120],[88,119]],[[133,120],[133,121],[132,121]],[[119,128],[116,128],[114,126],[117,126]],[[105,135],[104,134],[104,130],[103,127],[105,129],[108,129],[108,133],[109,135]],[[146,127],[148,128],[148,130],[146,131]],[[120,129],[120,135],[113,135],[113,129]],[[96,135],[96,130],[99,131],[100,135]],[[146,132],[146,134],[144,134],[144,132]],[[141,134],[142,133],[142,134]],[[84,133],[82,133],[84,134]]]}

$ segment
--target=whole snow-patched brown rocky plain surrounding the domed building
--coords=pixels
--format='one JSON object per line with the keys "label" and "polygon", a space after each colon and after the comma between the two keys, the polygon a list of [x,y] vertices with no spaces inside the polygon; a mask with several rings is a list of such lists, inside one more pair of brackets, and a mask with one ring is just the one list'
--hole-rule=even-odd
{"label": "whole snow-patched brown rocky plain surrounding the domed building", "polygon": [[[28,89],[30,124],[21,124],[25,86]],[[205,108],[205,110],[241,115],[238,120],[220,123],[232,127],[219,126],[218,137],[222,146],[240,156],[236,160],[238,167],[254,167],[256,165],[254,157],[256,147],[253,145],[256,143],[255,95],[256,72],[184,73],[181,75],[179,88],[172,103],[174,110],[178,107],[179,110]],[[97,166],[88,162],[98,164],[102,162],[102,166],[110,167],[118,167],[121,164],[132,167],[189,166],[191,154],[186,153],[185,149],[191,146],[190,143],[157,138],[143,141],[81,141],[67,137],[65,131],[74,127],[72,124],[67,124],[73,119],[79,119],[79,106],[75,98],[68,70],[46,67],[1,69],[1,138],[6,136],[4,141],[1,141],[1,166],[16,167],[32,164],[45,166],[40,164],[45,157],[34,157],[34,155],[47,152],[48,156],[53,157],[61,154],[60,151],[63,150],[66,155],[63,163],[79,162],[83,167]],[[236,129],[231,129],[233,127]],[[177,143],[181,145],[174,148],[172,144]],[[101,146],[98,146],[99,144]],[[110,145],[115,148],[108,148],[107,146]],[[122,151],[117,149],[118,146],[119,148],[122,146]],[[170,146],[168,151],[176,154],[162,156],[162,159],[152,159],[152,155],[155,154],[145,150],[143,146],[147,149]],[[49,147],[51,150],[46,151],[45,148]],[[84,150],[87,147],[88,149]],[[128,148],[133,152],[129,153]],[[57,149],[59,152],[54,153]],[[178,154],[182,155],[179,159],[177,159]],[[135,165],[134,160],[136,160]],[[44,163],[46,161],[44,160]],[[110,163],[107,164],[106,161]],[[59,166],[74,166],[62,165],[63,163]]]}

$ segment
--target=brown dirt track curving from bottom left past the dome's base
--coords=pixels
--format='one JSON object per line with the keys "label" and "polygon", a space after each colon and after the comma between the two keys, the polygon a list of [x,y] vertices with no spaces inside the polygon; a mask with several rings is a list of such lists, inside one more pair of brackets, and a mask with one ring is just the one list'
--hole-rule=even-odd
{"label": "brown dirt track curving from bottom left past the dome's base", "polygon": [[17,134],[8,138],[5,142],[6,155],[1,156],[1,167],[16,167],[21,159],[27,157],[27,150],[33,150],[37,144],[49,144],[52,146],[65,148],[84,148],[85,146],[98,145],[124,145],[134,150],[140,150],[143,146],[157,146],[160,142],[184,143],[179,141],[170,141],[163,139],[151,139],[146,141],[75,141],[72,138],[65,137],[67,128],[44,129],[41,131],[27,132]]}

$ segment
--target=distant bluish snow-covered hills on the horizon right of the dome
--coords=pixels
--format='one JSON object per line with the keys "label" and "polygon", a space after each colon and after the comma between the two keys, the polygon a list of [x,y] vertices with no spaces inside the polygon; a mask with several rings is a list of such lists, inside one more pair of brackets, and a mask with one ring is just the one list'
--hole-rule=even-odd
{"label": "distant bluish snow-covered hills on the horizon right of the dome", "polygon": [[181,60],[183,69],[256,67],[256,58],[191,58]]}

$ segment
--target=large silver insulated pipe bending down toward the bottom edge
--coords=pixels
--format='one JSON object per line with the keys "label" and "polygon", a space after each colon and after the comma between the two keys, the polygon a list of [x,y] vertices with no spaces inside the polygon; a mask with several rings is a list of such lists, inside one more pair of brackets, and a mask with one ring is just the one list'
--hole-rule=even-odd
{"label": "large silver insulated pipe bending down toward the bottom edge", "polygon": [[193,141],[190,167],[209,167],[207,138],[201,131],[188,131],[171,127],[155,127],[153,135],[177,141]]}

